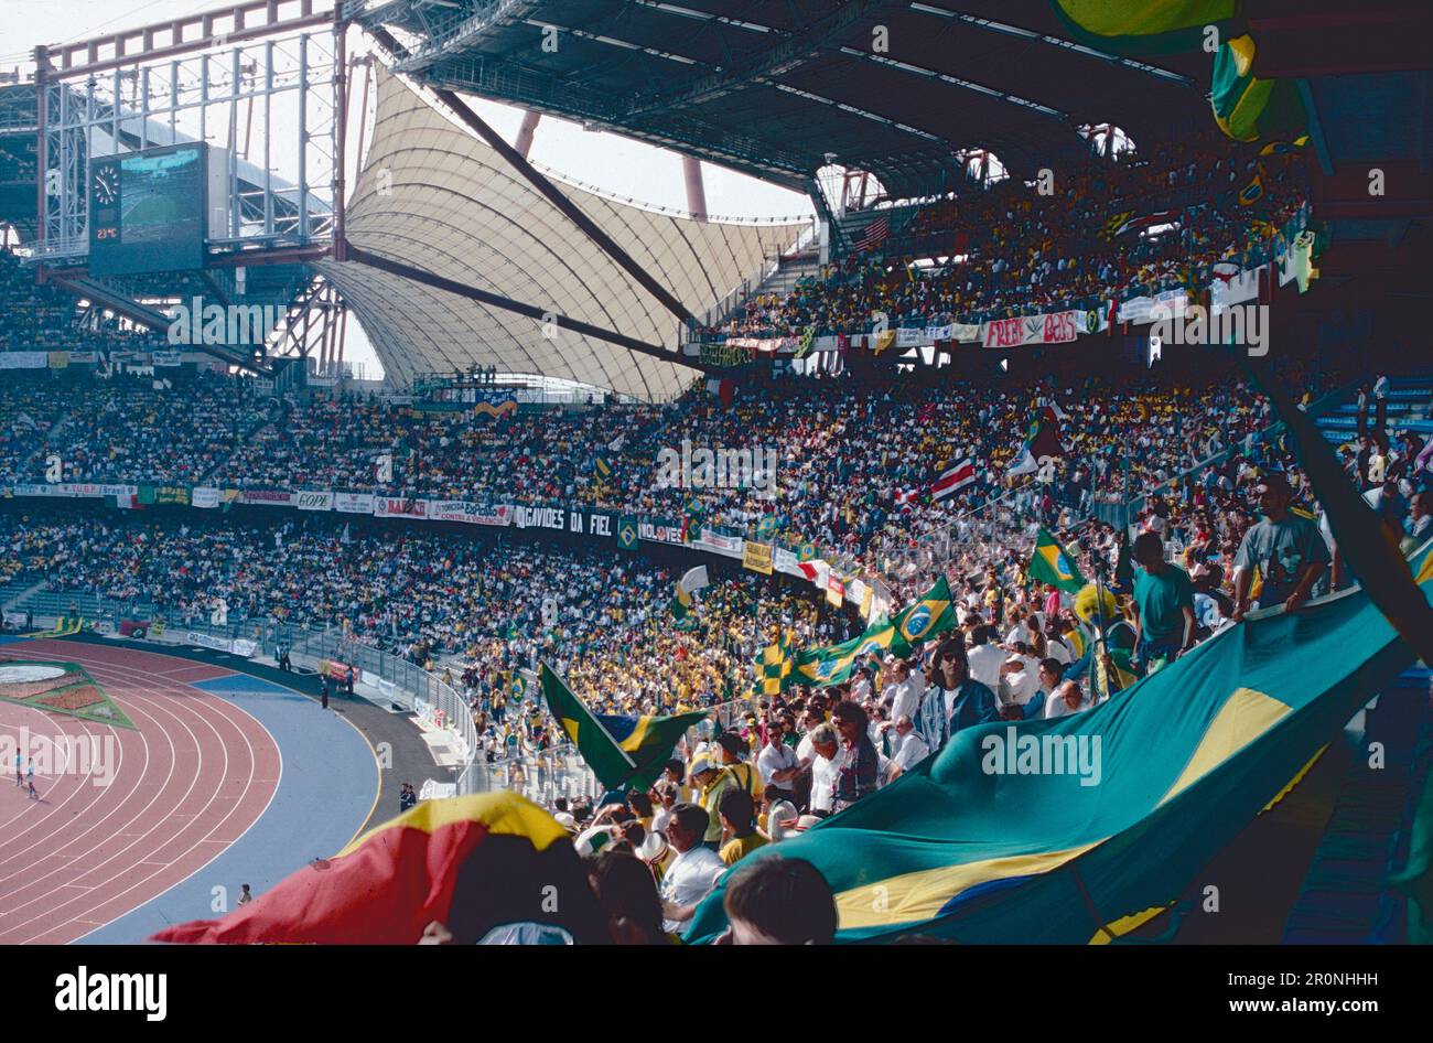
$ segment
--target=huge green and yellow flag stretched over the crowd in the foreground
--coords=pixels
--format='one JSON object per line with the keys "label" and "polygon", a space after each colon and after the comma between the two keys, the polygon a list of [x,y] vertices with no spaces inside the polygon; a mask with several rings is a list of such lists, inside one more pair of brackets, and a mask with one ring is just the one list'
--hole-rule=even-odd
{"label": "huge green and yellow flag stretched over the crowd in the foreground", "polygon": [[[962,729],[774,854],[831,884],[838,941],[1112,941],[1195,884],[1413,660],[1361,590],[1260,613],[1093,709]],[[688,941],[725,928],[722,897]]]}

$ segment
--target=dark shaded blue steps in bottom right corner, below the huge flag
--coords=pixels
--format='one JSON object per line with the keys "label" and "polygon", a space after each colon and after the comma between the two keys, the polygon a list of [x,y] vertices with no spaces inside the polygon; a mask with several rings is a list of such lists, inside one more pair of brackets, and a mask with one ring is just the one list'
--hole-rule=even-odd
{"label": "dark shaded blue steps in bottom right corner, below the huge flag", "polygon": [[[1433,746],[1429,672],[1403,673],[1366,711],[1363,741],[1284,926],[1288,944],[1396,943],[1406,915],[1389,877],[1407,860],[1409,831]],[[1381,746],[1381,765],[1370,765]]]}

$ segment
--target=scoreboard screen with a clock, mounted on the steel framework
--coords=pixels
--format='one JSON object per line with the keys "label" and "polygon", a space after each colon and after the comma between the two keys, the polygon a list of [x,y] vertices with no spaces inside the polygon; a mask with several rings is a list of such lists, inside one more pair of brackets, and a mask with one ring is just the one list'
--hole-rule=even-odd
{"label": "scoreboard screen with a clock, mounted on the steel framework", "polygon": [[90,163],[90,256],[96,275],[203,266],[205,146],[102,156]]}

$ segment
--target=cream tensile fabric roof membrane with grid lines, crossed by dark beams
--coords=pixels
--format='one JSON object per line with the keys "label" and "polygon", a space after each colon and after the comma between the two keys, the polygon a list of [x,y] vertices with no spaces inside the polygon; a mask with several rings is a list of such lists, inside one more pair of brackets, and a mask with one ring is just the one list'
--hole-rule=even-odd
{"label": "cream tensile fabric roof membrane with grid lines, crossed by dark beams", "polygon": [[[351,259],[315,268],[342,294],[396,384],[496,365],[645,401],[672,398],[698,375],[678,354],[674,307],[696,312],[759,278],[765,258],[810,226],[696,221],[562,185],[565,205],[592,222],[593,238],[510,156],[400,77],[381,69],[377,77],[373,142],[347,209]],[[649,275],[646,285],[603,238]],[[494,295],[527,314],[487,299]]]}

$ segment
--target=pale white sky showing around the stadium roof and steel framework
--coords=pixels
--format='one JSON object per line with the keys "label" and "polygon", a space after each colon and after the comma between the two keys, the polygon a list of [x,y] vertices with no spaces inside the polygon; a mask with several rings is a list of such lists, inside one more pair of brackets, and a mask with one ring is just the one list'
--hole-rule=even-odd
{"label": "pale white sky showing around the stadium roof and steel framework", "polygon": [[[37,43],[69,43],[221,7],[219,0],[0,0],[0,72],[33,69]],[[367,50],[358,30],[350,30],[350,53]],[[357,102],[355,102],[357,105]],[[373,107],[370,96],[370,109]],[[509,142],[517,136],[523,113],[506,105],[474,100],[474,110]],[[371,116],[371,113],[370,113]],[[368,135],[365,135],[367,138]],[[218,138],[222,145],[222,135]],[[350,133],[357,145],[357,133]],[[259,162],[261,158],[255,156]],[[533,138],[530,159],[569,178],[620,196],[658,206],[686,209],[681,156],[620,135],[583,130],[577,123],[545,116]],[[297,163],[278,155],[277,173],[292,176]],[[704,163],[706,211],[714,216],[807,216],[810,201],[735,170]],[[350,186],[357,181],[350,166]],[[361,331],[348,325],[345,360],[374,377],[380,364]]]}

